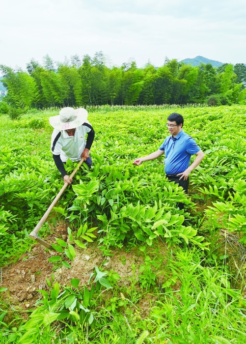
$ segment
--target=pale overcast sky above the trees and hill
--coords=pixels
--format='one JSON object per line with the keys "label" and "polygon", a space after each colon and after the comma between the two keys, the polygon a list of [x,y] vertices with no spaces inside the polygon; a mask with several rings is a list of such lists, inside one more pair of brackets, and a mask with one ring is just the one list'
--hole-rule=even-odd
{"label": "pale overcast sky above the trees and hill", "polygon": [[103,51],[114,65],[135,58],[198,55],[246,63],[245,0],[2,0],[0,64]]}

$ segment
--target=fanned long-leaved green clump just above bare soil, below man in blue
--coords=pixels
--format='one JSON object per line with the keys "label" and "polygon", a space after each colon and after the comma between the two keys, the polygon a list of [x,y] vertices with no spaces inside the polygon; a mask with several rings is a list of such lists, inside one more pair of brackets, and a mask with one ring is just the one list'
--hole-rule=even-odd
{"label": "fanned long-leaved green clump just above bare soil, below man in blue", "polygon": [[107,236],[100,239],[100,242],[103,242],[104,245],[109,242],[114,246],[117,242],[130,238],[131,230],[133,230],[136,238],[146,242],[149,246],[158,236],[162,236],[169,246],[171,243],[180,243],[180,238],[183,238],[187,244],[191,241],[202,249],[209,245],[209,243],[202,243],[204,239],[202,236],[196,236],[196,229],[182,226],[183,215],[171,215],[169,211],[165,211],[166,207],[163,207],[161,202],[158,207],[155,201],[154,207],[147,208],[140,204],[134,207],[130,203],[128,206],[122,207],[118,214],[111,211],[109,221],[105,215],[98,215],[98,219],[103,222],[104,226],[99,233],[107,233]]}

